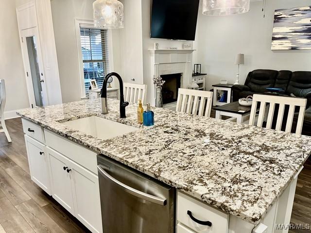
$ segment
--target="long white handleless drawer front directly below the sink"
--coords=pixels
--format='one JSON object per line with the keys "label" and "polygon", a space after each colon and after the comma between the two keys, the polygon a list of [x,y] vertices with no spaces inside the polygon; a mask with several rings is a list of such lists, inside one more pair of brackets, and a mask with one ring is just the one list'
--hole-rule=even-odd
{"label": "long white handleless drawer front directly below the sink", "polygon": [[77,164],[84,166],[91,172],[97,173],[97,153],[86,149],[62,136],[52,133],[49,130],[44,129],[46,138],[46,146],[52,148],[65,155],[69,159],[73,160]]}

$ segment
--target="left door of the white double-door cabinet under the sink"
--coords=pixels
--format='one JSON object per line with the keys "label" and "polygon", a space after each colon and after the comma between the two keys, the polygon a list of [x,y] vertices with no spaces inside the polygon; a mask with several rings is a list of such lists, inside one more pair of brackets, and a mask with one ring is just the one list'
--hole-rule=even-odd
{"label": "left door of the white double-door cabinet under the sink", "polygon": [[69,159],[49,147],[46,151],[51,164],[52,197],[74,215],[71,191],[72,174],[70,171],[67,172],[67,168],[70,169]]}

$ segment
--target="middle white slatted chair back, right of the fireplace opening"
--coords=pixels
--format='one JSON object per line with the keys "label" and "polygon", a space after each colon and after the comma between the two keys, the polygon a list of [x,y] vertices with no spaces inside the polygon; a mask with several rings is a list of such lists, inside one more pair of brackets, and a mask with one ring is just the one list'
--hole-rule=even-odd
{"label": "middle white slatted chair back, right of the fireplace opening", "polygon": [[176,112],[210,116],[213,93],[192,89],[178,89]]}

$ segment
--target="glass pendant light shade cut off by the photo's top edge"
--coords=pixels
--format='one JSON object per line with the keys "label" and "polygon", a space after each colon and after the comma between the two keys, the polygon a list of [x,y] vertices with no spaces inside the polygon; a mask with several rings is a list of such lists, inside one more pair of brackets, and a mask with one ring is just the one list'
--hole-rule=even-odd
{"label": "glass pendant light shade cut off by the photo's top edge", "polygon": [[250,0],[203,0],[203,15],[230,16],[249,11]]}

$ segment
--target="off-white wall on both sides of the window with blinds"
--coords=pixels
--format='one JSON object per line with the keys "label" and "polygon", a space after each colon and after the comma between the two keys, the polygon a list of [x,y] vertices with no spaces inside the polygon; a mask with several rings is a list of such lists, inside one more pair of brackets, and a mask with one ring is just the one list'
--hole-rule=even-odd
{"label": "off-white wall on both sides of the window with blinds", "polygon": [[[79,58],[76,43],[75,19],[93,20],[95,0],[51,0],[52,19],[57,51],[63,102],[81,100]],[[113,46],[109,57],[120,72],[120,40],[118,30],[112,31]]]}

